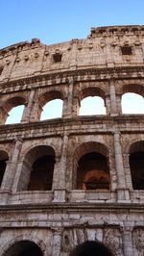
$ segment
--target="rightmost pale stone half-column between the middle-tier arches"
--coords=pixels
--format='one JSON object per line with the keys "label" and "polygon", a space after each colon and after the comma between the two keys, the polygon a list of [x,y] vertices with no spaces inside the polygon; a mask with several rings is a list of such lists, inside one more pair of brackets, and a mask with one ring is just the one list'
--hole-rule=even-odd
{"label": "rightmost pale stone half-column between the middle-tier arches", "polygon": [[117,173],[117,199],[119,201],[129,200],[130,195],[126,188],[125,171],[123,166],[122,149],[120,143],[120,133],[114,133],[114,153]]}

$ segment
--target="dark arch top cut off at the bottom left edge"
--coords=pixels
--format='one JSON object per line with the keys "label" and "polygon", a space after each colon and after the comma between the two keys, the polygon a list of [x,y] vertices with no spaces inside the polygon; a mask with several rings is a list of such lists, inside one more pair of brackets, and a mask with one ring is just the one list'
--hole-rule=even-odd
{"label": "dark arch top cut off at the bottom left edge", "polygon": [[38,245],[30,241],[20,241],[12,244],[6,251],[4,256],[43,256],[43,253]]}

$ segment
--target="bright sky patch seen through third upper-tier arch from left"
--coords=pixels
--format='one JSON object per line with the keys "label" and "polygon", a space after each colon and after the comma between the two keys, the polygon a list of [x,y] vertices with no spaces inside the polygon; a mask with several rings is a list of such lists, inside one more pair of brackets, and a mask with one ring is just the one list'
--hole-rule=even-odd
{"label": "bright sky patch seen through third upper-tier arch from left", "polygon": [[103,98],[89,96],[81,101],[80,115],[106,115],[106,107]]}

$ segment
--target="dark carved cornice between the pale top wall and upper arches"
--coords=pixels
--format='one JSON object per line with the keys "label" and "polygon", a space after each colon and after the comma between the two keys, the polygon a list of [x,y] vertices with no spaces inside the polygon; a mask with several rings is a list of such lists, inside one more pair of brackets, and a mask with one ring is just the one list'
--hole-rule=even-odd
{"label": "dark carved cornice between the pale top wall and upper arches", "polygon": [[[121,79],[124,78],[131,78],[132,73],[141,73],[140,77],[143,78],[144,75],[144,65],[136,65],[136,66],[117,66],[117,67],[106,67],[106,68],[84,68],[84,69],[76,69],[76,70],[67,70],[55,73],[47,73],[47,74],[39,74],[36,76],[26,77],[22,79],[17,79],[8,82],[1,82],[0,87],[1,89],[6,89],[10,87],[16,86],[25,86],[25,89],[28,87],[30,90],[33,83],[39,83],[43,81],[51,81],[52,84],[60,84],[60,83],[68,83],[68,78],[73,77],[74,82],[85,81],[85,76],[88,76],[87,80],[90,80],[90,76],[99,76],[96,79],[102,79],[101,76],[103,75],[104,79]],[[139,77],[138,77],[139,78]],[[93,80],[93,78],[92,78]]]}

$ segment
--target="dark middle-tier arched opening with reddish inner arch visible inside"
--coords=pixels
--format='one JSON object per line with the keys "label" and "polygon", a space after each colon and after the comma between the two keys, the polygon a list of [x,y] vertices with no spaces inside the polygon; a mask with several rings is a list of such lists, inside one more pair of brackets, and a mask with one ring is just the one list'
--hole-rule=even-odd
{"label": "dark middle-tier arched opening with reddish inner arch visible inside", "polygon": [[100,153],[85,154],[78,162],[78,190],[109,190],[107,158]]}

